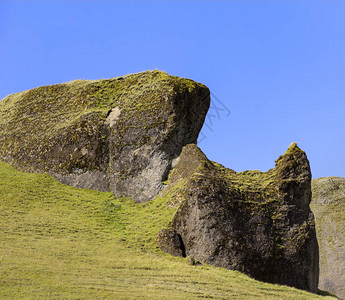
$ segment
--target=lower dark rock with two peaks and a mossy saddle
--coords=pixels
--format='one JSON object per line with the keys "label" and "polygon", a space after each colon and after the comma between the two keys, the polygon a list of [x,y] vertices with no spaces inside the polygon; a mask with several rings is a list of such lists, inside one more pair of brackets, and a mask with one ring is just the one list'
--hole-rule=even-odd
{"label": "lower dark rock with two peaks and a mossy saddle", "polygon": [[[169,232],[181,237],[186,256],[316,293],[319,254],[310,185],[307,156],[296,144],[274,169],[240,173],[187,145],[163,191],[178,196],[170,203],[179,208]],[[160,246],[164,251],[162,241]]]}

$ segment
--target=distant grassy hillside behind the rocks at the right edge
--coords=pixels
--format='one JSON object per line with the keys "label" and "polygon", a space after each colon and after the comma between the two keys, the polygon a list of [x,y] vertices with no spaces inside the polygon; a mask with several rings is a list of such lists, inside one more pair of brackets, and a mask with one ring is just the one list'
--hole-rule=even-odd
{"label": "distant grassy hillside behind the rocks at the right edge", "polygon": [[319,288],[345,299],[345,178],[314,179],[312,192],[320,246]]}

